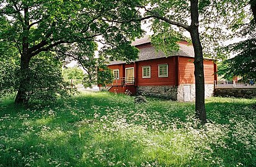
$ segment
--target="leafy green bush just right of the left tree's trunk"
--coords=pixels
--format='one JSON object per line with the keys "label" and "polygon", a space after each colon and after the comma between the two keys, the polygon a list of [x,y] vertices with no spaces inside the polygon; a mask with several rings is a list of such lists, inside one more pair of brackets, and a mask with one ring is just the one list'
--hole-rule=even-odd
{"label": "leafy green bush just right of the left tree's trunk", "polygon": [[[49,55],[50,54],[50,55]],[[29,83],[27,87],[27,99],[31,103],[35,100],[49,103],[56,101],[58,97],[69,97],[75,89],[69,82],[64,82],[61,75],[62,63],[53,58],[51,53],[38,55],[30,61]]]}

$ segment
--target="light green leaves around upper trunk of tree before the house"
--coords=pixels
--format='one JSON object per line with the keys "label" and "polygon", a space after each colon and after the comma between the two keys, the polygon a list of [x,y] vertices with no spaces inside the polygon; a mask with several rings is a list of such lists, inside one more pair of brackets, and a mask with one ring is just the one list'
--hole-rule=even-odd
{"label": "light green leaves around upper trunk of tree before the house", "polygon": [[[159,18],[152,19],[151,30],[154,32],[152,42],[157,47],[169,55],[177,51],[176,45],[180,40],[191,40],[183,36],[185,29],[180,25],[190,25],[192,1],[147,1],[150,3],[146,8],[146,15],[156,14],[164,17],[167,22]],[[193,1],[193,3],[195,3]],[[198,28],[200,40],[203,46],[203,54],[207,58],[226,59],[227,54],[223,54],[223,41],[231,40],[240,33],[241,25],[248,22],[251,17],[247,4],[244,1],[198,1]],[[150,7],[149,7],[150,6]],[[179,26],[175,24],[179,23]],[[190,27],[188,27],[190,28]]]}

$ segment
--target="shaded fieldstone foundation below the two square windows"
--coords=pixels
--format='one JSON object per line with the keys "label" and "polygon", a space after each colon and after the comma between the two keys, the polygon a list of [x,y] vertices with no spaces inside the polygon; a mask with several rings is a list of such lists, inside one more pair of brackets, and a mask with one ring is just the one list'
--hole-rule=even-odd
{"label": "shaded fieldstone foundation below the two square windows", "polygon": [[177,100],[177,86],[143,86],[137,87],[137,94]]}

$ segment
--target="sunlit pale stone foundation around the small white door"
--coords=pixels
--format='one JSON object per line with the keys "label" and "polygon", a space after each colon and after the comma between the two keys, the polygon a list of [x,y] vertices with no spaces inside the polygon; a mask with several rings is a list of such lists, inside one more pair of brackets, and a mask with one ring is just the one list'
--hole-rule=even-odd
{"label": "sunlit pale stone foundation around the small white door", "polygon": [[[191,101],[195,100],[195,84],[182,84],[179,85],[177,90],[177,100],[184,101],[184,85],[190,85],[190,98]],[[214,85],[213,84],[205,84],[205,98],[213,96]]]}

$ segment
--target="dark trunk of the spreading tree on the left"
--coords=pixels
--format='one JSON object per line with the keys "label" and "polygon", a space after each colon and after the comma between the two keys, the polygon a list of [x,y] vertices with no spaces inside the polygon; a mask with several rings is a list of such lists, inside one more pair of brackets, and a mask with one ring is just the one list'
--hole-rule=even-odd
{"label": "dark trunk of the spreading tree on the left", "polygon": [[27,103],[29,101],[27,96],[27,89],[29,88],[29,61],[29,56],[22,54],[20,58],[20,85],[15,97],[15,104]]}

